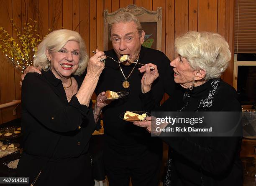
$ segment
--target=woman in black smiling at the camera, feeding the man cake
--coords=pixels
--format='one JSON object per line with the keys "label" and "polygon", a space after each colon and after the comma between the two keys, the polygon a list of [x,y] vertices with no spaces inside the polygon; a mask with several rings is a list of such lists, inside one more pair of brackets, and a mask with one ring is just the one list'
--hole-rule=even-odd
{"label": "woman in black smiling at the camera, feeding the man cake", "polygon": [[36,186],[94,185],[87,150],[105,106],[104,93],[94,111],[90,100],[104,59],[97,50],[89,60],[84,40],[72,30],[51,32],[40,43],[34,66],[41,74],[28,73],[22,86],[19,177],[29,177]]}

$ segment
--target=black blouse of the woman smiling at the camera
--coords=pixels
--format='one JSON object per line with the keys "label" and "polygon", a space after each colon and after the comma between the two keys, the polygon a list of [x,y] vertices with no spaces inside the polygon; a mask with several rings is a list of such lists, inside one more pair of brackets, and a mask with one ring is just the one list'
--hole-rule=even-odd
{"label": "black blouse of the woman smiling at the camera", "polygon": [[[79,89],[83,79],[74,78]],[[28,73],[21,97],[23,149],[27,154],[72,158],[87,153],[95,129],[91,103],[88,109],[75,96],[68,102],[61,80],[50,70],[42,75]]]}

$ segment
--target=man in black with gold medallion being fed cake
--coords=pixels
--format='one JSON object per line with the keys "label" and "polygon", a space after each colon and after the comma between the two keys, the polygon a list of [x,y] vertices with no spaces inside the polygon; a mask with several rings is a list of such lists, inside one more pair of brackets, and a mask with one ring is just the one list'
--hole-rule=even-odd
{"label": "man in black with gold medallion being fed cake", "polygon": [[[110,40],[113,50],[105,55],[120,60],[129,55],[133,62],[153,63],[158,67],[159,78],[151,87],[154,99],[159,102],[164,92],[170,94],[174,89],[172,68],[163,52],[141,46],[144,31],[137,17],[124,12],[119,13],[110,23]],[[145,128],[125,122],[120,114],[125,111],[141,110],[141,65],[124,61],[118,64],[107,58],[105,69],[100,75],[95,93],[106,90],[129,92],[122,99],[115,99],[102,110],[104,122],[104,166],[110,186],[158,186],[162,159],[162,142],[151,137]],[[28,69],[26,72],[36,72]]]}

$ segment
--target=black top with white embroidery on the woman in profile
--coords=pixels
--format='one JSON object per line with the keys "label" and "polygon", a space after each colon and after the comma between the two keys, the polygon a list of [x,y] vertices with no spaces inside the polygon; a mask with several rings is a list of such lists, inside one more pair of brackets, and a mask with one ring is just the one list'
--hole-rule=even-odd
{"label": "black top with white embroidery on the woman in profile", "polygon": [[[180,88],[160,107],[155,107],[151,96],[151,91],[141,94],[147,111],[241,111],[235,89],[220,79],[210,79],[192,91]],[[160,138],[171,147],[173,164],[167,185],[243,185],[241,137]]]}

